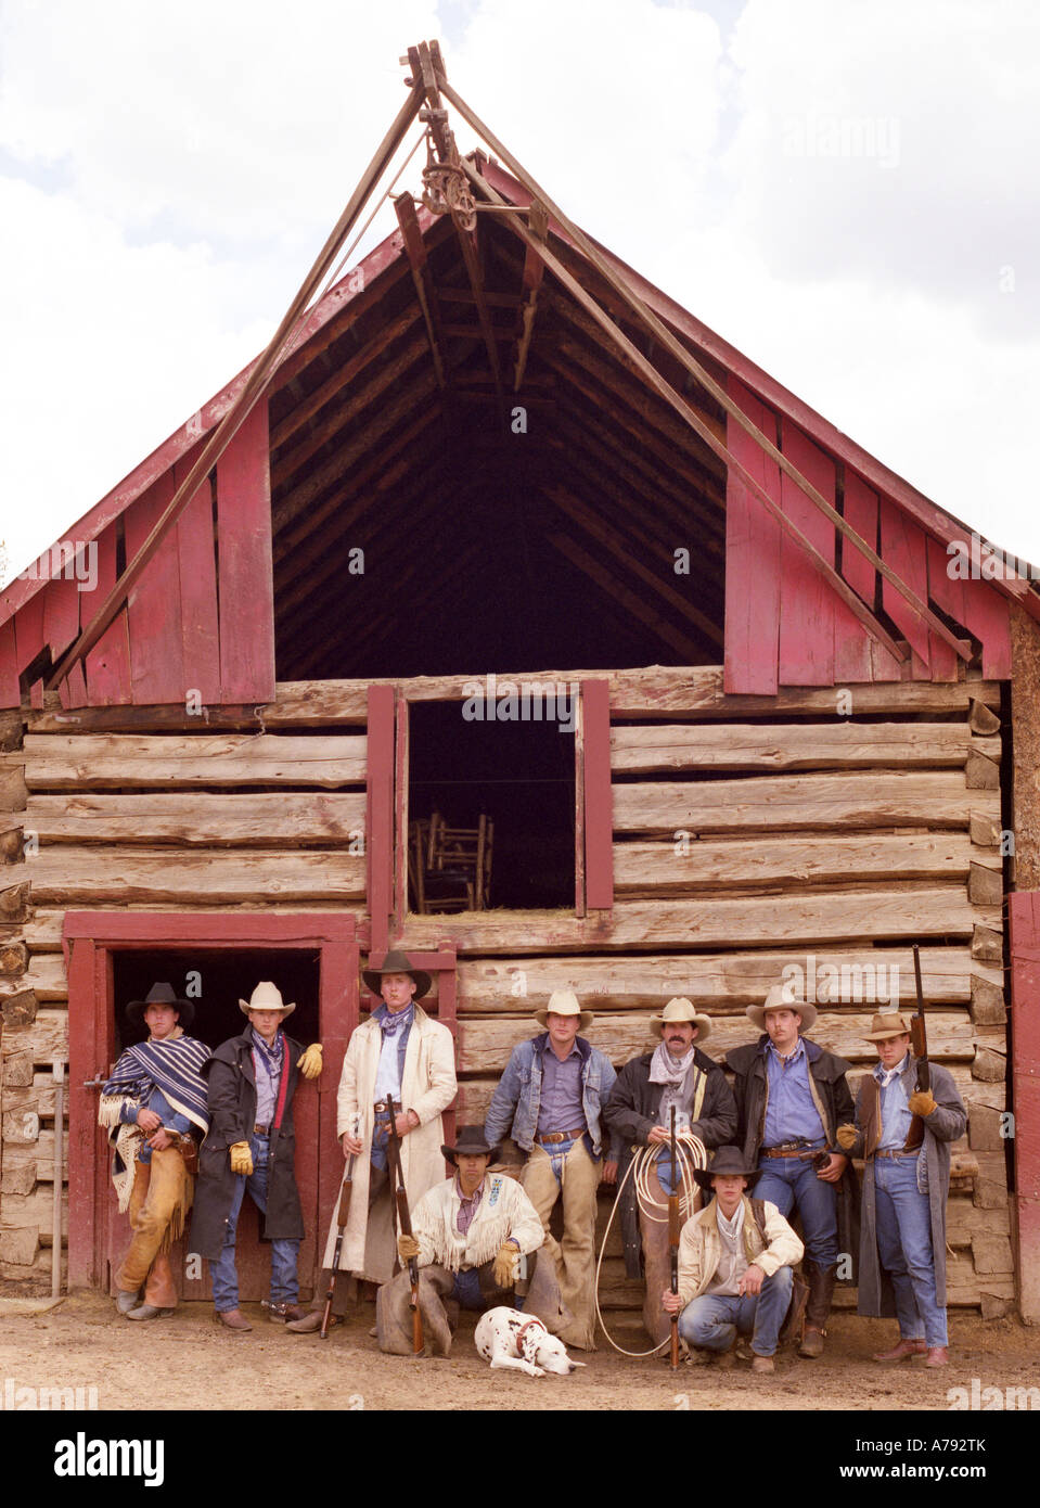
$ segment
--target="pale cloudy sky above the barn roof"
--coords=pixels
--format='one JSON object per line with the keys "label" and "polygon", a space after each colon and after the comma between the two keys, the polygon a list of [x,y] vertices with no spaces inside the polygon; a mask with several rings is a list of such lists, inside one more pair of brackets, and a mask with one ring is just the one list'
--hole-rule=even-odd
{"label": "pale cloudy sky above the barn roof", "polygon": [[434,36],[588,231],[1040,562],[1034,0],[0,0],[8,575],[267,344]]}

